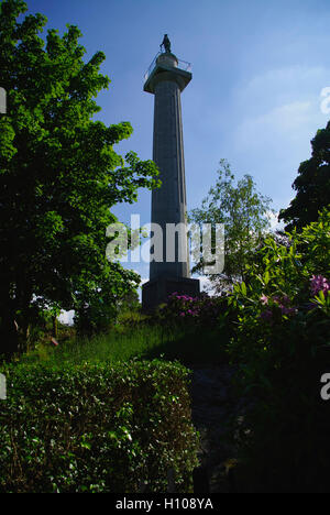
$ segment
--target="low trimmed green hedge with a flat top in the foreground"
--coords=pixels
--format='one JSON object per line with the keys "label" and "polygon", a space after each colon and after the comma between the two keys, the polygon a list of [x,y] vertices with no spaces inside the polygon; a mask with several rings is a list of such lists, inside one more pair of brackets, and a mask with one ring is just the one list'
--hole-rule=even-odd
{"label": "low trimmed green hedge with a flat top in the foreground", "polygon": [[0,492],[179,492],[197,465],[188,371],[162,361],[8,365]]}

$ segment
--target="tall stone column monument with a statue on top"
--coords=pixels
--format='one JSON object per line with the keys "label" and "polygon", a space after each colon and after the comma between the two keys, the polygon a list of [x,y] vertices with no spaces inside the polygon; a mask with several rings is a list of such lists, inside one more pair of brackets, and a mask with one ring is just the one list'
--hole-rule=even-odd
{"label": "tall stone column monument with a statue on top", "polygon": [[[199,281],[190,278],[186,227],[186,182],[180,92],[191,73],[170,52],[165,34],[161,53],[153,62],[144,91],[154,95],[153,161],[160,168],[162,186],[152,193],[152,223],[163,235],[152,238],[150,281],[142,288],[142,306],[153,309],[174,292],[196,296]],[[187,64],[187,63],[186,63]],[[155,237],[158,237],[157,239]],[[154,243],[154,245],[153,245]],[[155,249],[157,245],[157,249]]]}

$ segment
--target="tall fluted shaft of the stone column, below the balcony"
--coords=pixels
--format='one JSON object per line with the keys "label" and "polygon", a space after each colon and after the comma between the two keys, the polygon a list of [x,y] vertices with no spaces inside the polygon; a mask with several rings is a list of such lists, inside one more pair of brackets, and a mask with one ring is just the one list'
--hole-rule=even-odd
{"label": "tall fluted shaft of the stone column, below the balcony", "polygon": [[[186,183],[180,89],[175,80],[160,80],[155,86],[153,160],[161,171],[162,186],[152,193],[152,222],[163,230],[163,263],[150,265],[150,278],[189,277],[187,235],[176,235],[175,261],[166,261],[166,223],[186,222]],[[185,262],[179,262],[180,252]],[[168,258],[168,256],[167,256]]]}

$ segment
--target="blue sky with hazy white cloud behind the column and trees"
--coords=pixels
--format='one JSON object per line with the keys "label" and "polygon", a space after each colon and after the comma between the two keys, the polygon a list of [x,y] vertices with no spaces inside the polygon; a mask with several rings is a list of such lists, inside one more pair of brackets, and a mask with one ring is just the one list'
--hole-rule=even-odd
{"label": "blue sky with hazy white cloud behind the column and trees", "polygon": [[[182,96],[188,210],[198,207],[216,180],[219,160],[238,178],[251,174],[257,189],[286,207],[299,163],[310,156],[310,140],[330,118],[320,92],[330,86],[329,0],[29,0],[48,28],[76,24],[86,58],[97,51],[111,78],[100,94],[107,124],[130,121],[134,132],[118,145],[152,158],[153,96],[143,75],[169,35],[177,57],[193,64],[193,80]],[[151,193],[118,206],[129,222],[150,221]],[[136,266],[143,278],[147,265]]]}

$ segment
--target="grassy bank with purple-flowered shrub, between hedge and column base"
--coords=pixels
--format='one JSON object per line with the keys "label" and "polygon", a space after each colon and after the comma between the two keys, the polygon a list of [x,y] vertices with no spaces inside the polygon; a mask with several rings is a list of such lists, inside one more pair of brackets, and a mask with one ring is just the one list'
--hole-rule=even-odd
{"label": "grassy bank with purple-flowered shrub, between hedge and column base", "polygon": [[[139,309],[123,313],[107,331],[90,338],[76,335],[74,328],[59,326],[54,343],[52,327],[48,327],[48,331],[38,335],[31,351],[19,360],[56,365],[161,357],[188,366],[207,361],[223,362],[232,326],[227,310],[227,297],[193,298],[174,294],[153,315],[141,315]],[[230,313],[232,315],[232,310]]]}

